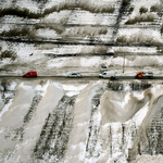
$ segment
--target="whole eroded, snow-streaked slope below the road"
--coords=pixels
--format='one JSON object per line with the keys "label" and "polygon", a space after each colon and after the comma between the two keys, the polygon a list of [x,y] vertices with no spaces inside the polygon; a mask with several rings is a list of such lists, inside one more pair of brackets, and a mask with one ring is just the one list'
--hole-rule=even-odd
{"label": "whole eroded, snow-streaked slope below the road", "polygon": [[8,89],[2,85],[0,91],[0,162],[163,161],[160,83],[148,83],[147,89],[145,82],[73,85],[5,80]]}

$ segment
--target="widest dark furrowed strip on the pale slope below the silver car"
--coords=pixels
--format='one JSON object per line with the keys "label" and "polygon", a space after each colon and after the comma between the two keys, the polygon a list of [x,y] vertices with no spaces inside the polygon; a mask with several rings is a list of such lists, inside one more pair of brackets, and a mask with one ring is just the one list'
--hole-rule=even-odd
{"label": "widest dark furrowed strip on the pale slope below the silver car", "polygon": [[64,96],[55,111],[48,115],[42,127],[39,140],[36,143],[34,153],[37,160],[49,160],[60,162],[64,156],[68,134],[72,128],[73,109],[76,96]]}

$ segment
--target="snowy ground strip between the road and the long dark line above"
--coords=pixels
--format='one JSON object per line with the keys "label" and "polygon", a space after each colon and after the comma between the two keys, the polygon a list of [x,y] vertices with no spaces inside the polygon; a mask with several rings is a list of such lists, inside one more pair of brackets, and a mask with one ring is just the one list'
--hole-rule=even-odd
{"label": "snowy ground strip between the road and the long dark line above", "polygon": [[[1,75],[18,75],[28,72],[37,71],[38,76],[65,75],[71,72],[79,72],[87,76],[97,76],[100,73],[102,64],[108,66],[108,70],[114,70],[116,75],[133,76],[137,71],[150,67],[154,75],[162,75],[162,55],[155,55],[155,48],[104,48],[104,47],[88,47],[88,46],[52,46],[42,45],[34,47],[33,45],[12,43],[7,45],[1,42],[2,51],[9,48],[16,52],[17,58],[14,61],[3,59],[1,61]],[[115,57],[93,57],[91,53],[100,51],[114,51]],[[33,55],[30,55],[33,53]],[[79,53],[80,57],[62,57],[60,54]],[[139,53],[146,53],[141,55]],[[55,54],[59,55],[55,58]],[[126,55],[125,55],[126,54]],[[137,55],[139,54],[139,55]],[[149,54],[149,55],[148,55]],[[151,55],[152,54],[152,55]],[[125,55],[125,73],[123,73]],[[13,66],[14,65],[14,66]]]}

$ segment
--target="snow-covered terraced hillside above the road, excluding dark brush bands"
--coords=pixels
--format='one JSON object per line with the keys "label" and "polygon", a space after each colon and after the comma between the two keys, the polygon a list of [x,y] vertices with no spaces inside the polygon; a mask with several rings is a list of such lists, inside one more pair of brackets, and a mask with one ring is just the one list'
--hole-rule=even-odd
{"label": "snow-covered terraced hillside above the road, excluding dark brush bands", "polygon": [[[15,1],[11,2],[5,0],[1,2],[2,9],[14,7],[20,7],[21,9],[28,9],[30,12],[39,13],[43,12],[47,9],[55,9],[50,14],[47,14],[43,17],[38,20],[34,18],[22,18],[18,16],[5,15],[1,17],[1,32],[10,30],[20,24],[36,24],[40,23],[45,28],[35,29],[35,34],[39,38],[43,39],[61,39],[62,41],[82,41],[89,42],[90,39],[93,39],[99,42],[110,42],[112,41],[114,25],[117,23],[118,9],[121,8],[120,1],[103,0],[103,1],[52,1],[49,0],[45,3],[37,3],[33,1]],[[84,5],[85,4],[85,5]],[[146,5],[145,5],[146,4]],[[139,0],[138,2],[133,0],[130,1],[129,7],[134,7],[134,11],[129,14],[129,17],[134,17],[139,14],[139,9],[146,7],[148,13],[150,8],[153,5],[161,4],[161,1],[151,1],[146,2]],[[73,9],[73,7],[79,7]],[[67,7],[67,9],[66,9]],[[87,8],[86,8],[87,7]],[[96,7],[96,12],[90,11],[89,7]],[[100,13],[103,9],[114,7],[115,11],[113,13]],[[41,11],[40,11],[41,10]],[[156,12],[153,14],[156,15]],[[146,14],[146,13],[145,13]],[[126,16],[122,17],[120,21],[121,25],[124,25],[125,21],[129,18]],[[161,18],[161,17],[160,17]],[[21,25],[21,26],[22,26]],[[72,26],[66,26],[72,25]],[[153,24],[152,24],[153,25]],[[46,27],[47,26],[47,27]],[[110,27],[111,26],[111,27]],[[141,25],[140,25],[141,26]],[[101,64],[105,64],[109,70],[114,70],[117,75],[134,75],[136,71],[143,70],[143,67],[149,66],[155,75],[162,75],[162,62],[163,59],[160,55],[162,50],[159,50],[156,47],[161,46],[163,42],[162,35],[160,33],[161,26],[147,26],[143,28],[143,25],[140,27],[120,28],[115,36],[115,40],[125,43],[151,43],[153,47],[106,47],[106,46],[62,46],[62,45],[52,45],[52,43],[13,43],[13,42],[0,42],[1,53],[5,50],[10,50],[16,53],[17,58],[15,61],[10,59],[2,59],[0,64],[0,74],[1,75],[22,75],[28,71],[37,71],[39,75],[65,75],[68,72],[80,72],[84,75],[98,75],[100,72]],[[33,26],[34,27],[34,26]],[[33,28],[32,27],[32,28]],[[128,26],[129,27],[129,26]],[[139,28],[140,27],[140,28]],[[150,27],[150,28],[149,28]],[[18,28],[18,26],[16,26]],[[61,32],[58,33],[58,32]],[[116,58],[113,57],[89,57],[89,54],[97,53],[108,53],[115,52]],[[118,53],[129,53],[131,57],[125,58],[125,71],[123,73],[124,59],[118,57]],[[29,55],[33,53],[33,55]],[[77,58],[53,58],[54,55],[60,54],[84,54]],[[152,57],[142,57],[139,53],[143,54],[153,54]],[[51,57],[47,57],[51,54]],[[86,57],[85,57],[86,54]],[[138,57],[133,57],[137,55]],[[155,54],[155,57],[154,57]],[[154,60],[154,62],[153,62]],[[148,61],[148,62],[145,62]],[[14,65],[14,66],[13,66]]]}

